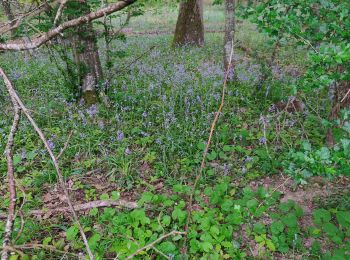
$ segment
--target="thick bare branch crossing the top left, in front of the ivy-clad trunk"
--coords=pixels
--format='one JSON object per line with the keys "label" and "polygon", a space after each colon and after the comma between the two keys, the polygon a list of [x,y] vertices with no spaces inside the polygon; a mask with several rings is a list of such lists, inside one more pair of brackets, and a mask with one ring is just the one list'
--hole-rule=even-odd
{"label": "thick bare branch crossing the top left, in front of the ivy-clad trunk", "polygon": [[30,43],[26,43],[23,39],[20,42],[14,42],[14,43],[4,43],[0,44],[0,50],[29,50],[29,49],[36,49],[39,48],[41,45],[45,44],[52,38],[59,35],[64,30],[75,27],[84,23],[91,22],[95,19],[101,18],[105,15],[109,15],[111,13],[114,13],[116,11],[119,11],[128,5],[131,5],[132,3],[136,2],[136,0],[122,0],[118,1],[117,3],[111,4],[107,7],[101,8],[95,12],[91,12],[87,15],[81,16],[79,18],[67,21],[62,23],[61,25],[57,26],[56,28],[48,31],[47,33],[40,35],[39,37],[33,37],[30,40]]}

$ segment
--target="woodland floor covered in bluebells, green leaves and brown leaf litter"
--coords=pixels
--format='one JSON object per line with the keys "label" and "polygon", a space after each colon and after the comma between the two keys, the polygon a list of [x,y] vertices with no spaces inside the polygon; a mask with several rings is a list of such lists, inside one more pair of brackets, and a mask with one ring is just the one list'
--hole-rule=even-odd
{"label": "woodland floor covered in bluebells, green leaves and brown leaf litter", "polygon": [[[105,73],[110,107],[69,101],[60,74],[64,64],[54,46],[1,54],[1,66],[52,149],[56,154],[64,150],[60,166],[74,205],[101,206],[79,210],[98,259],[125,259],[185,227],[186,204],[221,98],[224,13],[216,6],[205,11],[203,48],[173,49],[176,13],[148,11],[131,20],[126,40],[113,41],[114,66]],[[311,177],[306,170],[321,174],[328,161],[317,162],[315,156],[310,165],[296,159],[311,158],[310,147],[327,154],[322,148],[327,127],[320,124],[330,105],[327,93],[298,93],[306,105],[302,111],[281,108],[295,94],[292,86],[305,68],[305,50],[281,47],[268,79],[262,80],[273,49],[268,40],[249,22],[238,23],[237,80],[228,84],[194,194],[189,259],[349,257],[349,179]],[[102,41],[100,46],[104,62]],[[0,101],[3,154],[12,113],[3,87]],[[84,251],[78,228],[48,154],[24,118],[16,148],[21,208],[16,248],[32,259],[77,259]],[[5,179],[4,157],[0,172]],[[0,195],[3,219],[6,182]],[[3,229],[0,222],[0,234]],[[135,258],[181,259],[182,243],[183,235],[175,235]]]}

